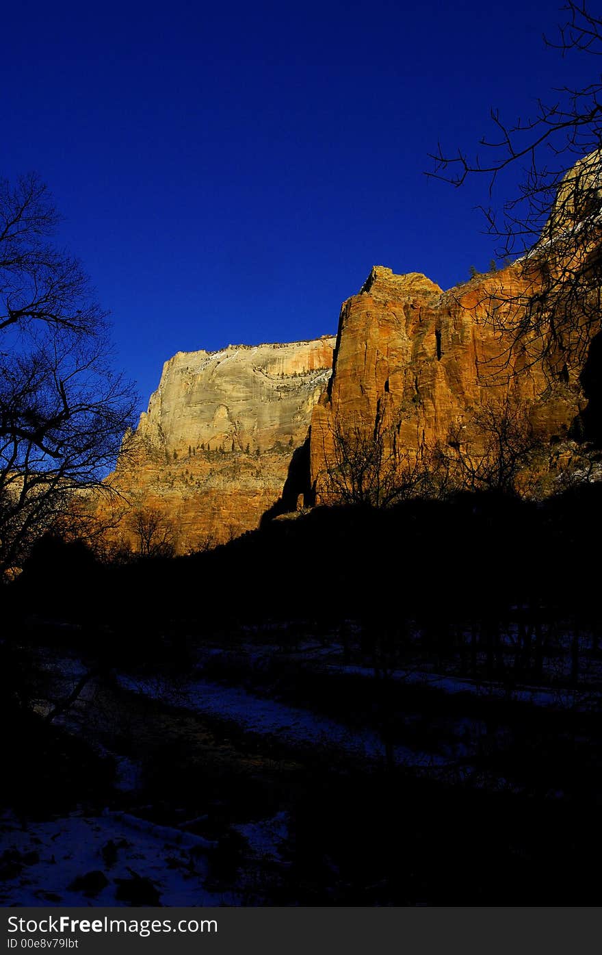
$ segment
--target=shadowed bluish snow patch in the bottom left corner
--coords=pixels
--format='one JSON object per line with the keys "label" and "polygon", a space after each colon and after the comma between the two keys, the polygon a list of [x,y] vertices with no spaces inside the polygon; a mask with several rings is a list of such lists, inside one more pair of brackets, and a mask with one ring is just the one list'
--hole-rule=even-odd
{"label": "shadowed bluish snow patch in the bottom left corner", "polygon": [[0,904],[231,905],[204,888],[215,843],[119,813],[0,819]]}

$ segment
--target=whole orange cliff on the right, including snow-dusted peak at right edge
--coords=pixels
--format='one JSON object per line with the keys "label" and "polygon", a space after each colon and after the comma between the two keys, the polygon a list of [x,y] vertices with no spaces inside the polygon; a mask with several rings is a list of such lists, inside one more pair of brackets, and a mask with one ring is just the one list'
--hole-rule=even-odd
{"label": "whole orange cliff on the right, including snow-dusted peak at right edge", "polygon": [[[433,448],[478,460],[487,415],[489,436],[514,415],[548,455],[542,473],[556,477],[582,455],[569,438],[602,441],[601,183],[597,150],[557,183],[529,252],[465,285],[444,292],[424,275],[372,269],[343,303],[332,377],[312,414],[318,500],[333,497],[345,433],[393,435],[395,454],[414,460]],[[531,215],[545,196],[536,191]]]}

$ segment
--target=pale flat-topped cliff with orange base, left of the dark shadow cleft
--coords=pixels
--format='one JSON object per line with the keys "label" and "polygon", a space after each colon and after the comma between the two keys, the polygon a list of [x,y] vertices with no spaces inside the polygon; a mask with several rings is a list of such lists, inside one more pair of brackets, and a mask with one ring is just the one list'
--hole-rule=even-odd
{"label": "pale flat-topped cliff with orange base, left of the dark shadow cleft", "polygon": [[335,338],[178,352],[163,367],[131,454],[109,478],[123,496],[114,539],[135,545],[132,510],[172,521],[186,552],[259,524],[332,370]]}

